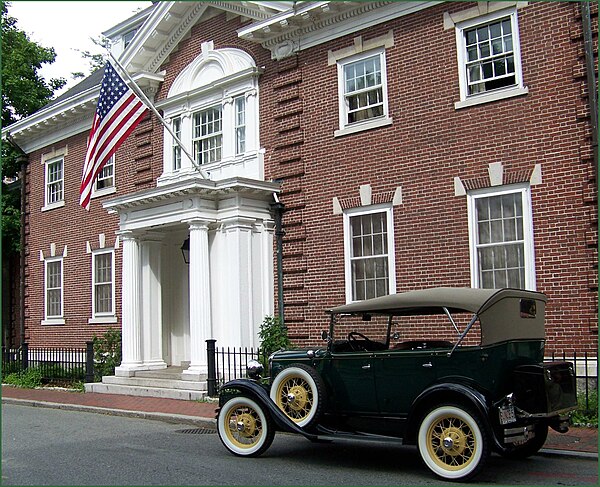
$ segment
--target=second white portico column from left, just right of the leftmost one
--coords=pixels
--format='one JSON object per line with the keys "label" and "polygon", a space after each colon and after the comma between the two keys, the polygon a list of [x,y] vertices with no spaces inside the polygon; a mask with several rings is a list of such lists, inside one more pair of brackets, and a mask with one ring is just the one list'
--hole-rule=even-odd
{"label": "second white portico column from left, just right of the leftmost one", "polygon": [[164,369],[162,347],[161,236],[144,236],[141,242],[142,362],[145,369]]}

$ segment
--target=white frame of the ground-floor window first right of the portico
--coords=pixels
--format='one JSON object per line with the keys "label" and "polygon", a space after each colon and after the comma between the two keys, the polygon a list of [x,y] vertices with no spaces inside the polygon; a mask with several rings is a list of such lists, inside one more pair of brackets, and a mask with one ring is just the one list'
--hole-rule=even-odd
{"label": "white frame of the ground-floor window first right of the portico", "polygon": [[390,205],[372,205],[369,207],[352,208],[344,211],[344,267],[346,279],[346,303],[354,302],[352,279],[352,227],[350,218],[356,216],[385,213],[387,220],[388,245],[388,293],[396,292],[396,252],[394,246],[394,212]]}

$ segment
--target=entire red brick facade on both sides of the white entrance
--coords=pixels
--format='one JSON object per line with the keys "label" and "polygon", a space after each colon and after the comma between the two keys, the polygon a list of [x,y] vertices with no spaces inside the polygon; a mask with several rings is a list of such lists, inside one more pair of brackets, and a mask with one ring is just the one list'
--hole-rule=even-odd
{"label": "entire red brick facade on both sides of the white entrance", "polygon": [[[443,29],[442,16],[446,10],[471,6],[434,7],[279,62],[262,47],[238,39],[236,30],[242,24],[223,14],[196,25],[162,66],[166,75],[157,100],[200,54],[204,41],[212,40],[216,49],[244,49],[264,67],[261,146],[266,149],[266,179],[283,180],[285,313],[298,344],[321,343],[320,331],[327,326],[324,310],[345,300],[342,217],[333,215],[333,197],[355,198],[362,184],[370,184],[373,194],[402,186],[403,204],[394,207],[398,291],[469,286],[467,203],[465,197],[454,196],[453,179],[486,180],[488,165],[501,162],[507,179],[542,165],[543,183],[532,187],[532,204],[537,288],[550,299],[548,348],[596,348],[597,197],[580,69],[578,5],[531,3],[519,10],[528,95],[455,110],[455,35]],[[327,51],[352,45],[357,35],[366,40],[389,30],[395,41],[386,50],[393,125],[334,138],[337,74],[335,66],[327,65]],[[32,345],[81,345],[107,328],[88,324],[91,256],[85,242],[97,243],[98,233],[105,233],[112,245],[118,220],[102,209],[102,201],[154,187],[162,173],[163,129],[148,117],[117,153],[117,194],[92,200],[87,213],[78,204],[86,137],[65,141],[64,208],[40,212],[41,154],[51,148],[30,158],[27,339]],[[39,251],[48,254],[51,242],[58,252],[68,245],[66,324],[55,327],[40,325],[44,273]],[[120,250],[116,269],[120,324]]]}

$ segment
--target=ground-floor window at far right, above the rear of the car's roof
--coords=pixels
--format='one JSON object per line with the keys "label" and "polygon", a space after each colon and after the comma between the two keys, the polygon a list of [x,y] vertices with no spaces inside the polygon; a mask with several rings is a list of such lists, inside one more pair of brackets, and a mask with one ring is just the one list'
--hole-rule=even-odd
{"label": "ground-floor window at far right, above the rear of the car's roof", "polygon": [[473,287],[535,290],[529,188],[469,195]]}

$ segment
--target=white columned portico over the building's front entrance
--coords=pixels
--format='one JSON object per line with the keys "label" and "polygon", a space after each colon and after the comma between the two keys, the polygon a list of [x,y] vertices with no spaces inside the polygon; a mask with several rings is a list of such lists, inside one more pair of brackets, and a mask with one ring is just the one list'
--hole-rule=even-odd
{"label": "white columned portico over the building's front entrance", "polygon": [[[207,371],[206,340],[257,346],[273,313],[274,183],[198,177],[107,202],[120,217],[123,359],[117,376]],[[189,238],[189,264],[182,243]]]}

